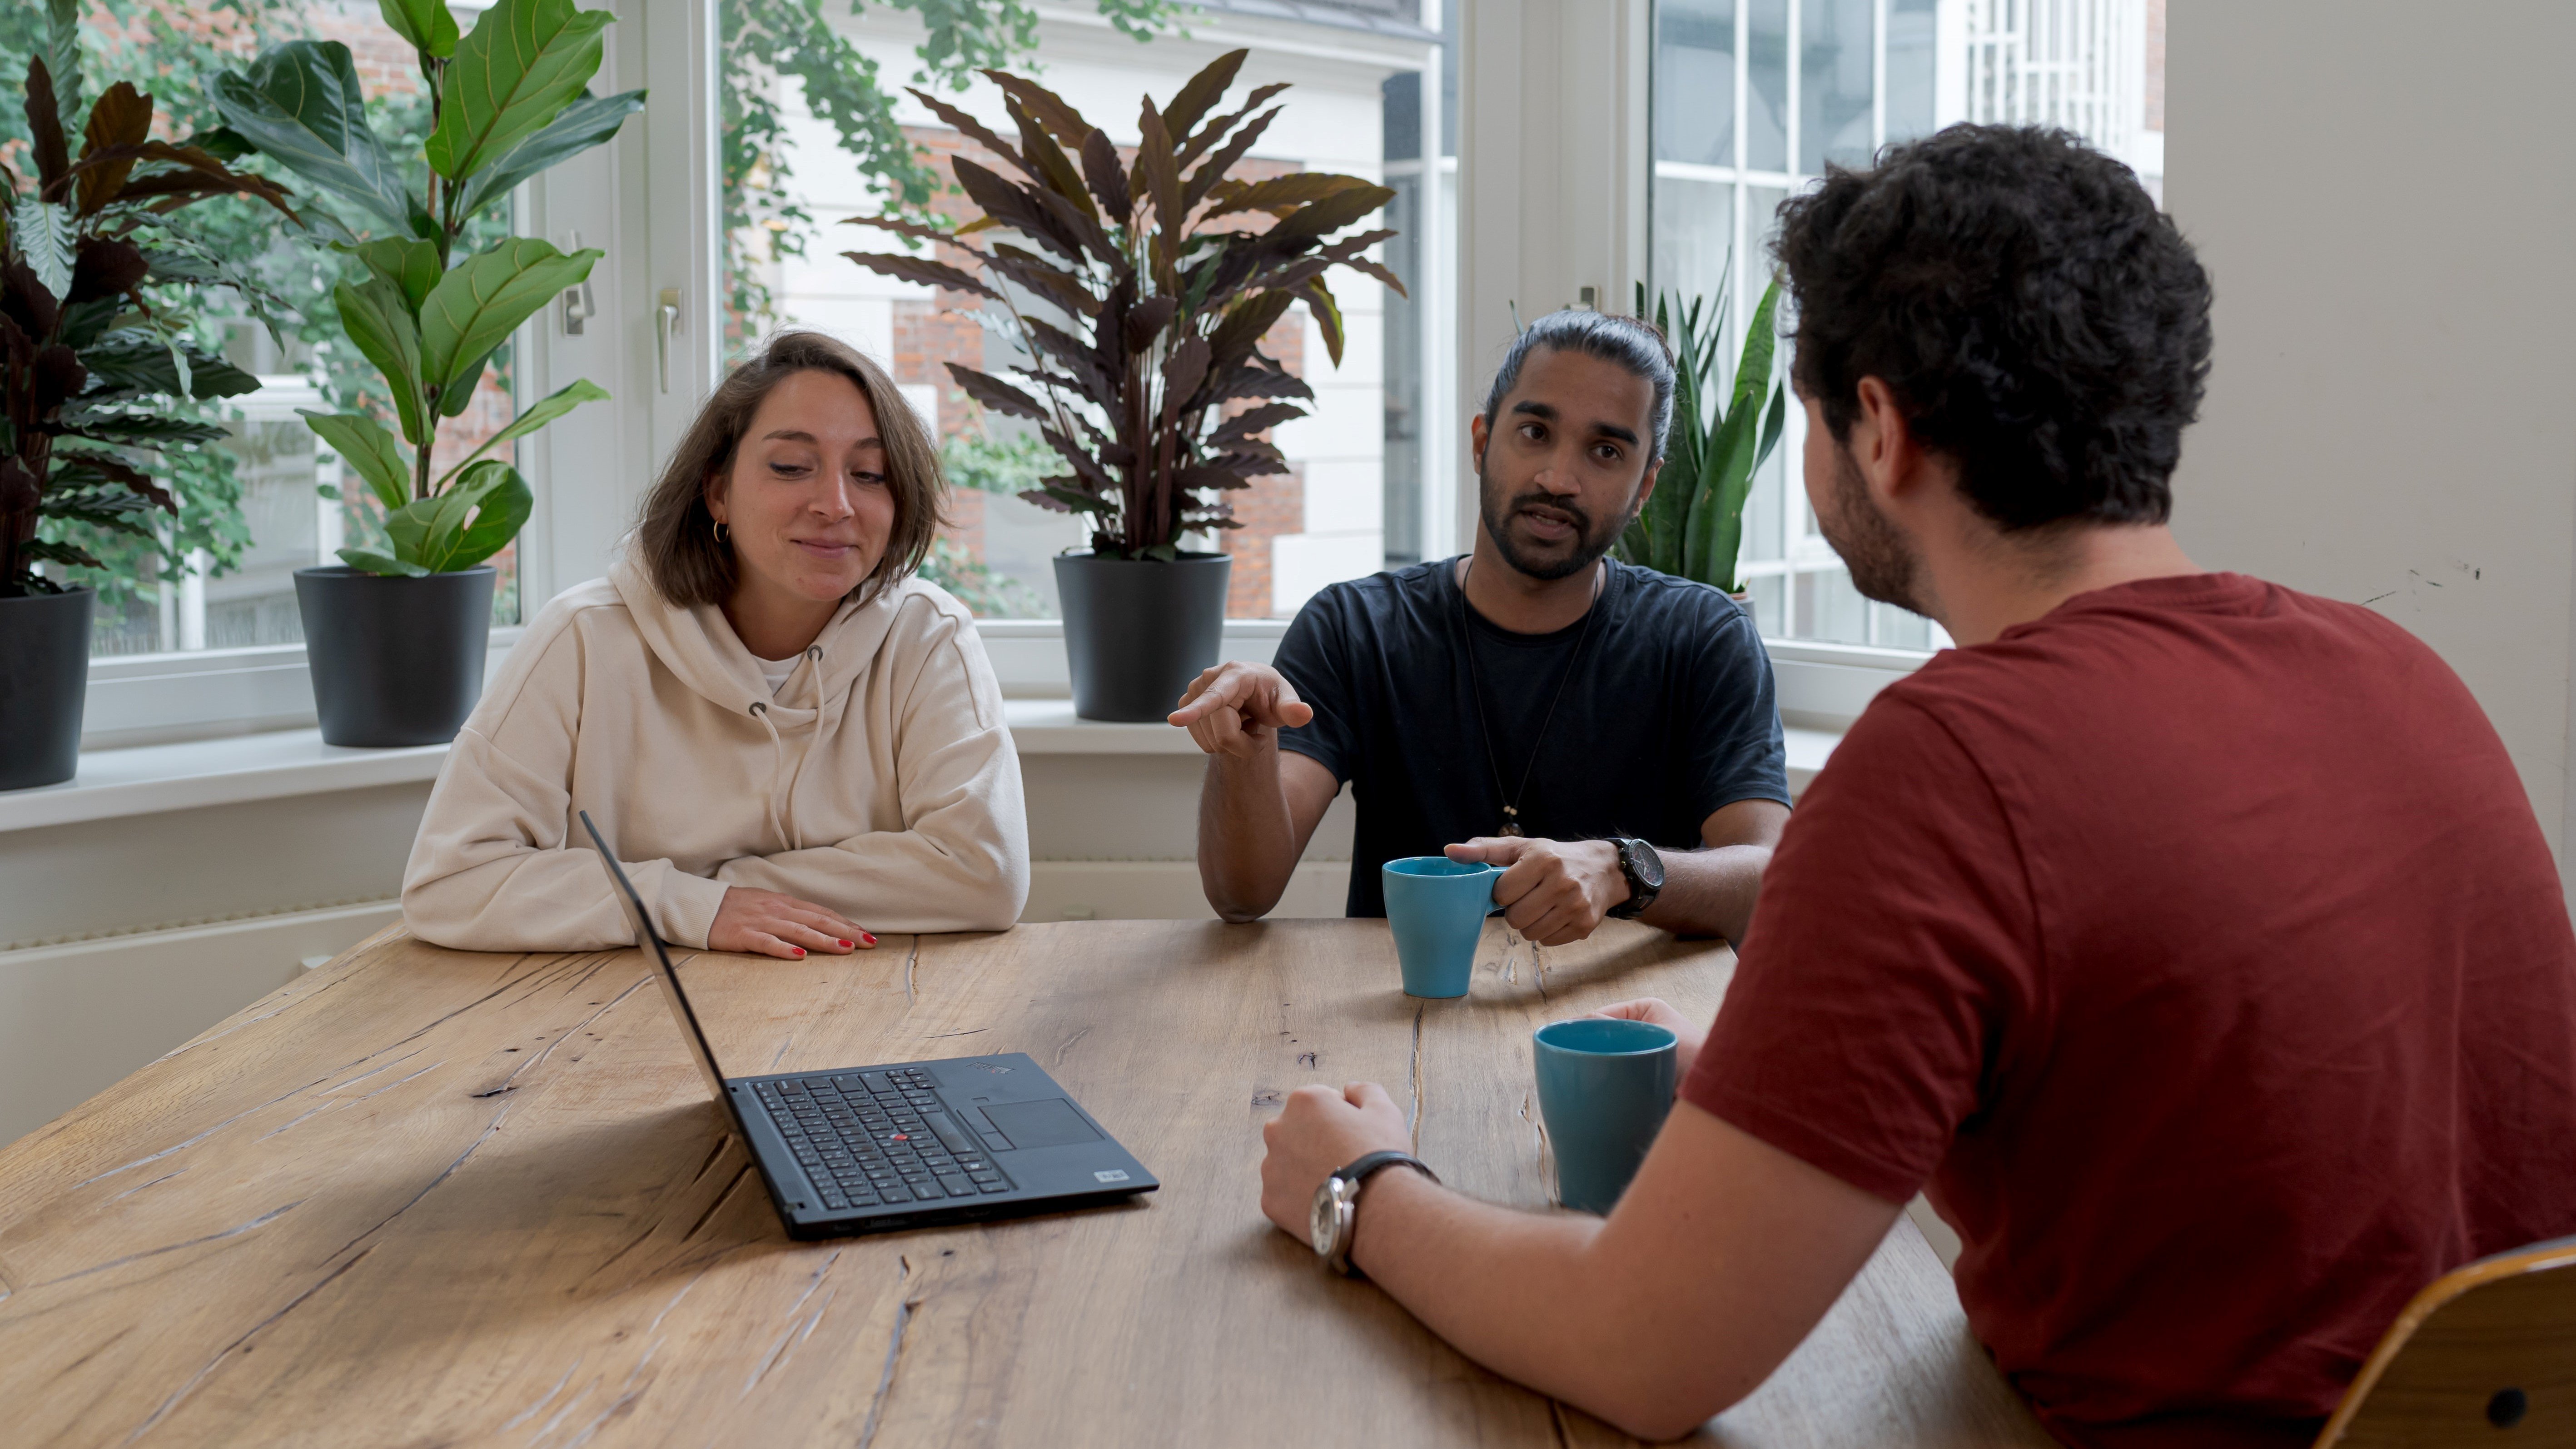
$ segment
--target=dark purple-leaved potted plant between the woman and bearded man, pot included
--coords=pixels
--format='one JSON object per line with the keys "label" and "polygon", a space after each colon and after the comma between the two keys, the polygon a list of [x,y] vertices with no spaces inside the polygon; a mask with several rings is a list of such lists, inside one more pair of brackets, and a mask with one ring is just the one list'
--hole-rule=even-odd
{"label": "dark purple-leaved potted plant between the woman and bearded man, pot included", "polygon": [[[1288,472],[1265,433],[1303,418],[1298,400],[1314,400],[1262,356],[1262,333],[1306,302],[1340,366],[1342,309],[1324,273],[1345,266],[1404,291],[1363,255],[1394,232],[1327,240],[1394,191],[1311,170],[1229,175],[1280,113],[1262,106],[1285,90],[1262,85],[1242,108],[1213,113],[1244,54],[1211,62],[1170,106],[1149,95],[1133,160],[1059,95],[1002,70],[984,75],[1002,88],[1018,142],[914,90],[1025,180],[958,160],[958,186],[984,214],[956,232],[853,219],[966,253],[981,276],[920,255],[845,255],[999,304],[1030,358],[1010,371],[1036,389],[958,364],[948,371],[984,407],[1036,423],[1069,469],[1020,498],[1090,523],[1090,554],[1056,559],[1074,714],[1084,719],[1162,719],[1216,663],[1231,559],[1182,541],[1242,526],[1221,492]],[[966,240],[992,229],[1028,245]]]}

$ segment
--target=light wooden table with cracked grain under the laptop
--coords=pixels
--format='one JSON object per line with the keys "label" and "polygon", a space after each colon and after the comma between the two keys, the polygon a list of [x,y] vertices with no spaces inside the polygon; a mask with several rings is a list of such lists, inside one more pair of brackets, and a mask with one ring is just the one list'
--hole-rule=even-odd
{"label": "light wooden table with cracked grain under the laptop", "polygon": [[[1162,1181],[1133,1207],[781,1232],[634,951],[389,931],[0,1150],[8,1444],[1625,1444],[1468,1364],[1257,1207],[1260,1124],[1386,1083],[1540,1207],[1530,1031],[1734,959],[1489,926],[1396,990],[1381,923],[1061,923],[683,967],[734,1073],[1023,1049]],[[1713,1444],[2045,1444],[1896,1232]]]}

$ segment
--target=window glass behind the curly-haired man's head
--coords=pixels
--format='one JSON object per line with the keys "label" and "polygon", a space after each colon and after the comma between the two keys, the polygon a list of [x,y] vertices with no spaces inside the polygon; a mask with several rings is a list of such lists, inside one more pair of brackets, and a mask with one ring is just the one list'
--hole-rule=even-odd
{"label": "window glass behind the curly-haired man's head", "polygon": [[[2161,41],[2161,0],[1659,0],[1649,286],[1726,289],[1734,356],[1770,281],[1780,204],[1826,165],[1868,165],[1886,142],[1960,119],[2069,126],[2159,191],[2148,57]],[[1852,588],[1795,472],[1806,418],[1788,420],[1744,508],[1739,575],[1762,634],[1945,645],[1932,621]]]}

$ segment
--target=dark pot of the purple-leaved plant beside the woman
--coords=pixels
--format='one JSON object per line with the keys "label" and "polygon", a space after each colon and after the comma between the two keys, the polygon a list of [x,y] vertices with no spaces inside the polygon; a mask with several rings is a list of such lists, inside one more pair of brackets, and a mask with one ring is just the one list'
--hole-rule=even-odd
{"label": "dark pot of the purple-leaved plant beside the woman", "polygon": [[1103,559],[1056,554],[1064,657],[1082,719],[1162,719],[1226,634],[1226,554]]}

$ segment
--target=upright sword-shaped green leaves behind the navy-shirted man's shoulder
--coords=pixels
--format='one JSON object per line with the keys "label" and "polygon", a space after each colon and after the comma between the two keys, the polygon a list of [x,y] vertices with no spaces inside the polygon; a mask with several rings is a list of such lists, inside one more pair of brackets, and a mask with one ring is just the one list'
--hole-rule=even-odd
{"label": "upright sword-shaped green leaves behind the navy-shirted man's shoulder", "polygon": [[[1687,299],[1680,307],[1680,330],[1672,325],[1669,304],[1669,297],[1654,304],[1654,325],[1672,338],[1677,364],[1664,485],[1646,508],[1638,508],[1615,552],[1620,562],[1718,585],[1749,608],[1744,580],[1736,575],[1744,500],[1788,423],[1788,392],[1772,376],[1780,284],[1762,289],[1731,384],[1718,371],[1726,289],[1718,289],[1716,302]],[[1636,289],[1636,315],[1646,315],[1646,284]]]}

